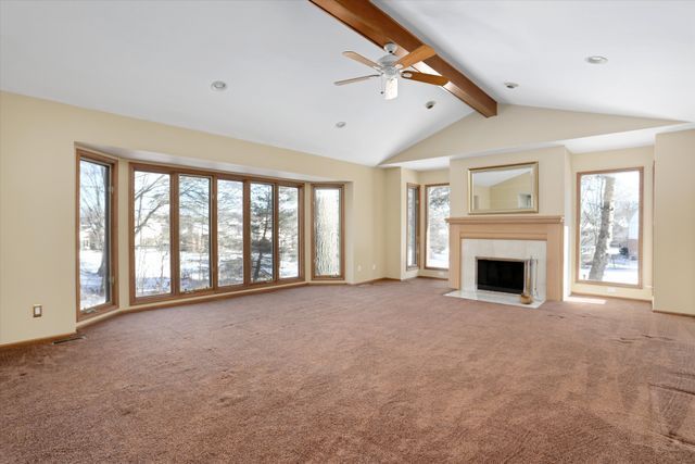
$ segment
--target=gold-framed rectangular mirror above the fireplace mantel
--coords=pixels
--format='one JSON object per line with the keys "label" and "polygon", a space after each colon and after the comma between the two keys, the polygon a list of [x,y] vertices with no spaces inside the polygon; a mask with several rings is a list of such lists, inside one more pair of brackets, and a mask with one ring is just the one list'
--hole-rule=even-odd
{"label": "gold-framed rectangular mirror above the fireplace mantel", "polygon": [[539,163],[468,170],[468,213],[539,212]]}

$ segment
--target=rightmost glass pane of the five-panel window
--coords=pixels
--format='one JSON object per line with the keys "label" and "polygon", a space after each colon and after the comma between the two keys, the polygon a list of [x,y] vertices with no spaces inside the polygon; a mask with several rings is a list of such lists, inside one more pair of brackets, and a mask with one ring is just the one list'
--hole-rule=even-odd
{"label": "rightmost glass pane of the five-panel window", "polygon": [[279,187],[278,241],[280,278],[300,275],[300,189]]}

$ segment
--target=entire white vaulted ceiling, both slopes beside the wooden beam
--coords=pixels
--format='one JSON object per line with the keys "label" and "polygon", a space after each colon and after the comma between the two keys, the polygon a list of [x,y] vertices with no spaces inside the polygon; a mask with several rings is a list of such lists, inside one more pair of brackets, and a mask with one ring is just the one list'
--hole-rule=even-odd
{"label": "entire white vaulted ceiling, both slopes beside the wooden beam", "polygon": [[[375,3],[502,103],[695,121],[693,2]],[[308,1],[0,2],[5,91],[367,165],[477,116],[424,84],[336,87],[369,72],[343,50],[383,54]]]}

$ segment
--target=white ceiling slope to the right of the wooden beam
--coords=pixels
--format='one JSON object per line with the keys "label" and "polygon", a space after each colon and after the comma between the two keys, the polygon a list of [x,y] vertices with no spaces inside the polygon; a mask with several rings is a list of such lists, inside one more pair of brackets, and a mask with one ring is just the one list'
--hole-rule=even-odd
{"label": "white ceiling slope to the right of the wooden beam", "polygon": [[695,1],[375,3],[501,102],[695,121]]}

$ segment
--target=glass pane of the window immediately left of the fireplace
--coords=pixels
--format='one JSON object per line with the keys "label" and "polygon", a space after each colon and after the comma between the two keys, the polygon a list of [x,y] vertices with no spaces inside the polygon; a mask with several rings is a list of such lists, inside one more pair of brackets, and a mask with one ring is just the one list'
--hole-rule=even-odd
{"label": "glass pane of the window immediately left of the fireplace", "polygon": [[425,265],[448,268],[448,186],[427,188],[427,243]]}

